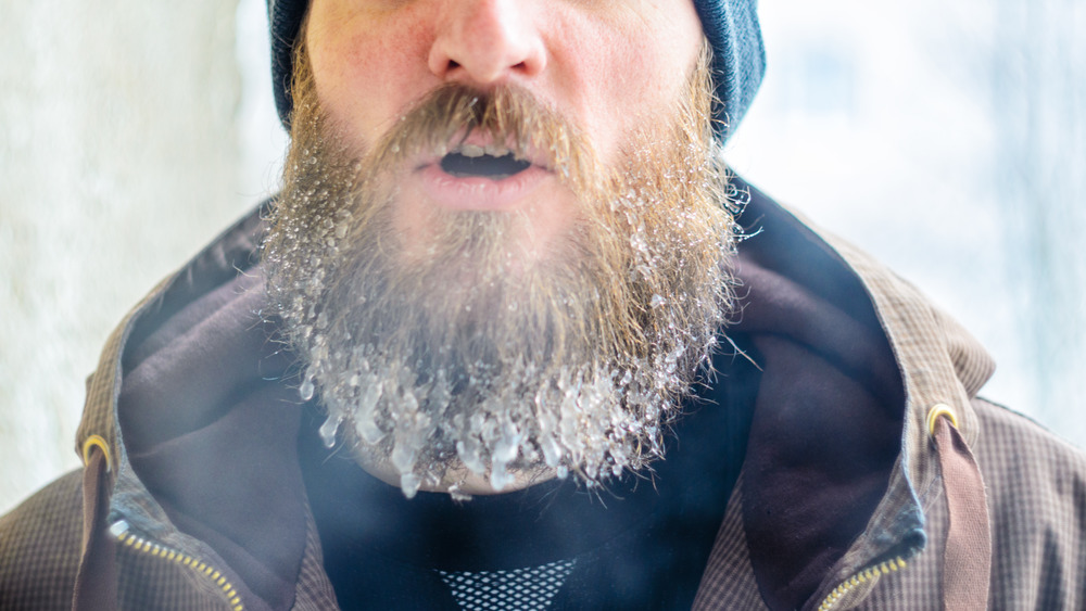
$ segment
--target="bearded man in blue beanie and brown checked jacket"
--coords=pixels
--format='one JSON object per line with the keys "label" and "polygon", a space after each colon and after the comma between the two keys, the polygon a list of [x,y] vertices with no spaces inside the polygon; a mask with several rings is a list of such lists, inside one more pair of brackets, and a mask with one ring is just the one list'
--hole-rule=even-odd
{"label": "bearded man in blue beanie and brown checked jacket", "polygon": [[3,609],[1086,604],[1084,457],[730,174],[747,0],[270,0],[281,193],[129,315]]}

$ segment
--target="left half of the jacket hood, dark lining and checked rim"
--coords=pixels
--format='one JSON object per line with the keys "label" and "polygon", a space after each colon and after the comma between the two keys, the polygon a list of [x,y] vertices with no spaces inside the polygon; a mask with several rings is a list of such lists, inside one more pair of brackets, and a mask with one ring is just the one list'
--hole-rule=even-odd
{"label": "left half of the jacket hood, dark lining and checked rim", "polygon": [[115,457],[111,523],[228,575],[245,609],[287,609],[307,535],[301,406],[250,272],[261,217],[223,233],[114,332],[79,443],[101,435]]}

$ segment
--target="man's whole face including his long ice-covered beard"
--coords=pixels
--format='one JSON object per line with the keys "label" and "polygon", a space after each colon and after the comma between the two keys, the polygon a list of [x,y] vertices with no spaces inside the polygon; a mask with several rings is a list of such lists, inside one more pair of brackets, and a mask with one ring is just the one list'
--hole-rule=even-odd
{"label": "man's whole face including his long ice-covered beard", "polygon": [[697,18],[614,4],[312,7],[264,268],[326,443],[408,496],[643,468],[727,314]]}

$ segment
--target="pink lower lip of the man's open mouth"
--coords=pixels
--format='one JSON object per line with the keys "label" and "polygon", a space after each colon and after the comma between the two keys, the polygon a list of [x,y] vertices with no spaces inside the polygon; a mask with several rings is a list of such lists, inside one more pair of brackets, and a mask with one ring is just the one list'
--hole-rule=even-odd
{"label": "pink lower lip of the man's open mouth", "polygon": [[457,177],[430,164],[419,169],[422,190],[438,205],[460,211],[503,211],[535,190],[551,173],[530,166],[501,180],[481,176]]}

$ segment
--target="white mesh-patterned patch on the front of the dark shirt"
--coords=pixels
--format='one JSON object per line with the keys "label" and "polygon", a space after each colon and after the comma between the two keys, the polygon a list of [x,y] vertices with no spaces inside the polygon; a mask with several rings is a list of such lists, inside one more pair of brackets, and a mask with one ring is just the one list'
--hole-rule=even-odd
{"label": "white mesh-patterned patch on the front of the dark shirt", "polygon": [[438,571],[438,574],[465,611],[544,611],[574,564],[577,560],[558,560],[532,569],[479,573]]}

